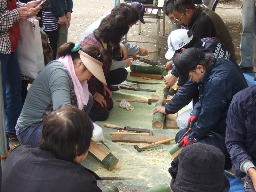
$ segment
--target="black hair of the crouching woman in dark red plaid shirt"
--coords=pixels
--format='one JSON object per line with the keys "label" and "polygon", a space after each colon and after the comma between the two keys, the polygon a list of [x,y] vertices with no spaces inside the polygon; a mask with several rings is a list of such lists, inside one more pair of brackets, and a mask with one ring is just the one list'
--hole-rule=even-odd
{"label": "black hair of the crouching woman in dark red plaid shirt", "polygon": [[112,43],[117,47],[122,37],[128,33],[129,25],[124,16],[110,14],[100,22],[100,26],[93,31],[97,39],[102,39],[104,43]]}

